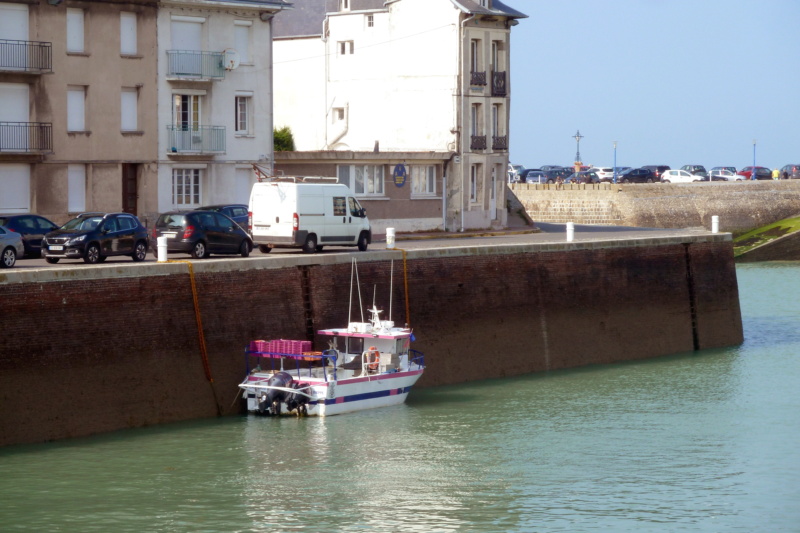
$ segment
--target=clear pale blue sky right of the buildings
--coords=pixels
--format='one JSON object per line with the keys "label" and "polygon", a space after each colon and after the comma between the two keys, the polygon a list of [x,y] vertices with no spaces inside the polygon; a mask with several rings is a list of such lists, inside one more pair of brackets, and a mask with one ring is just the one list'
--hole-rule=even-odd
{"label": "clear pale blue sky right of the buildings", "polygon": [[504,2],[512,163],[800,163],[800,0]]}

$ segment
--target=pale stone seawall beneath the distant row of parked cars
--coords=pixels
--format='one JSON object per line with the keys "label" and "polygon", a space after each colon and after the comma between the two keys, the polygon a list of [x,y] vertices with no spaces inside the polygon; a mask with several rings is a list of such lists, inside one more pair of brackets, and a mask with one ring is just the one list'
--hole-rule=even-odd
{"label": "pale stone seawall beneath the distant row of parked cars", "polygon": [[708,229],[717,215],[720,231],[743,233],[800,213],[800,180],[510,188],[534,223]]}

